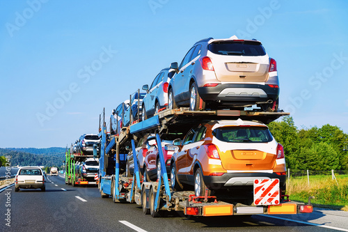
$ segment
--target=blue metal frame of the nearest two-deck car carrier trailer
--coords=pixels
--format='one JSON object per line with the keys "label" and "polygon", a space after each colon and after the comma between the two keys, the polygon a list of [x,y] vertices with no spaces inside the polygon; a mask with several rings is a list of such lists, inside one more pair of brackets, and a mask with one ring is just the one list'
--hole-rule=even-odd
{"label": "blue metal frame of the nearest two-deck car carrier trailer", "polygon": [[[184,215],[223,216],[223,215],[255,215],[255,214],[297,214],[313,212],[313,206],[308,203],[283,201],[274,206],[248,206],[242,203],[218,201],[214,196],[195,196],[193,191],[175,192],[171,189],[166,169],[161,169],[161,178],[157,181],[143,182],[137,164],[134,141],[146,133],[155,133],[159,146],[161,167],[166,167],[161,149],[161,137],[165,134],[182,132],[186,134],[193,121],[203,119],[237,119],[258,120],[269,123],[284,112],[216,110],[189,111],[185,108],[166,109],[145,121],[123,127],[118,135],[106,132],[105,122],[100,123],[100,184],[102,197],[112,196],[113,202],[137,203],[142,206],[145,214],[152,217],[161,216],[163,210],[182,210]],[[185,131],[186,130],[186,131]],[[134,176],[122,175],[122,160],[120,153],[132,149],[134,160]]]}

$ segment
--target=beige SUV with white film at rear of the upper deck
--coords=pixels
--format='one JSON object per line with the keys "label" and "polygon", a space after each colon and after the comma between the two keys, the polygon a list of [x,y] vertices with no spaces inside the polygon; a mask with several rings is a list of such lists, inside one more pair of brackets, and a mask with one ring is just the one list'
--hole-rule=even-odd
{"label": "beige SUV with white film at rear of the upper deck", "polygon": [[196,42],[168,85],[168,108],[226,109],[257,105],[278,111],[277,65],[258,40],[207,38]]}

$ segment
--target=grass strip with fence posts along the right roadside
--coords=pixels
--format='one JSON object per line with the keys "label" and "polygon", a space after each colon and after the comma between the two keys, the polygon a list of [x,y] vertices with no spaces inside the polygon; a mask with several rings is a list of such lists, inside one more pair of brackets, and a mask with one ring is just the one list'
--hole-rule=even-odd
{"label": "grass strip with fence posts along the right roadside", "polygon": [[314,205],[332,206],[333,208],[348,208],[348,176],[336,176],[337,183],[331,176],[310,176],[291,178],[287,180],[287,194],[292,201],[308,202],[308,196]]}

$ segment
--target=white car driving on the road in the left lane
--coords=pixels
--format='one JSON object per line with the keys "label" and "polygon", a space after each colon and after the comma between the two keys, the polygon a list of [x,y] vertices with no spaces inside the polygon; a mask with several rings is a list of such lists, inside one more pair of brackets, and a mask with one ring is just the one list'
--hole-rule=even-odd
{"label": "white car driving on the road in the left lane", "polygon": [[15,192],[19,189],[46,191],[45,174],[40,167],[21,167],[15,176]]}

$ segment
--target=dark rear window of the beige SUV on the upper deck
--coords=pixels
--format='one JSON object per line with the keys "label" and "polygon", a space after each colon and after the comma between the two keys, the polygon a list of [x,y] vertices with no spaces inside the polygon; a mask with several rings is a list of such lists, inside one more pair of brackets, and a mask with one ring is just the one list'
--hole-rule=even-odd
{"label": "dark rear window of the beige SUV on the upper deck", "polygon": [[264,56],[266,51],[258,41],[223,41],[208,45],[210,52],[226,56]]}

